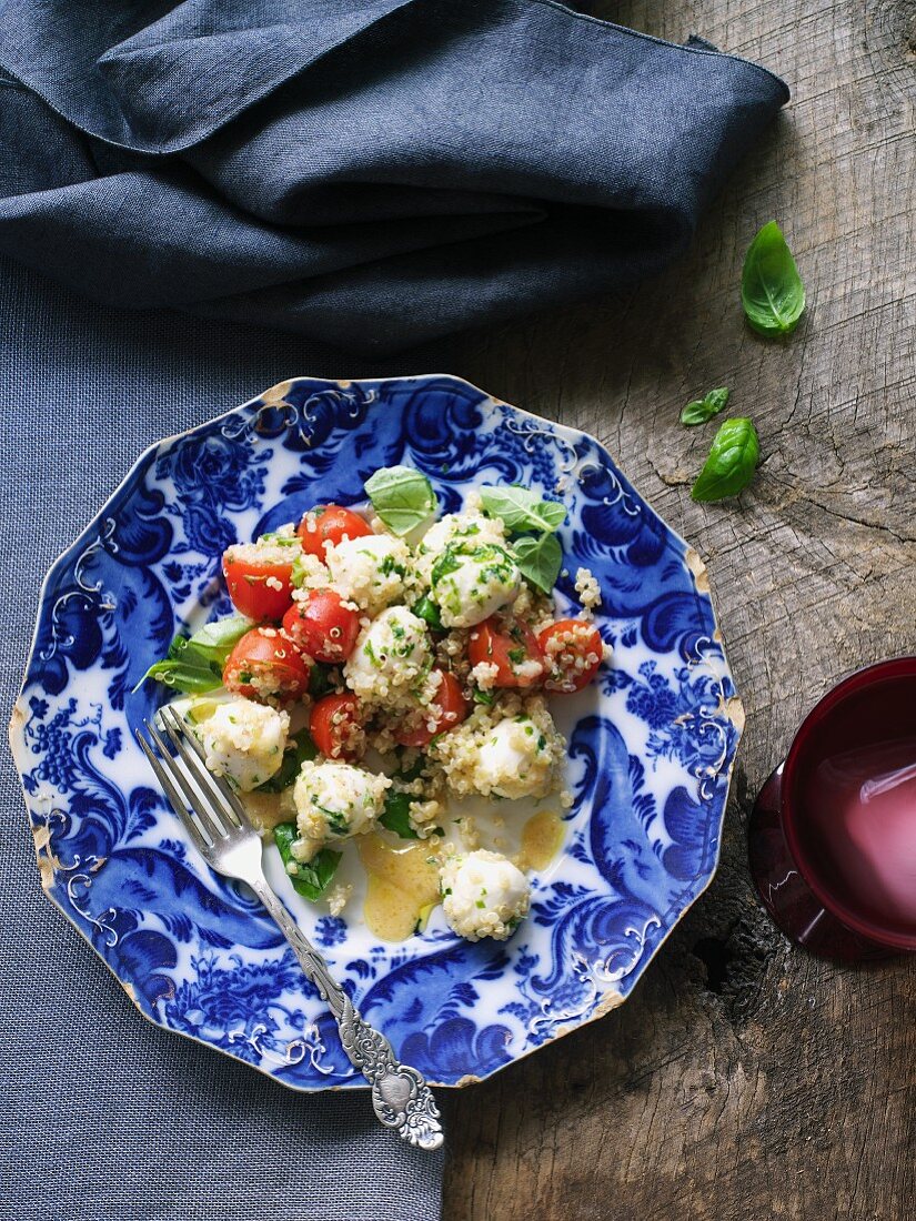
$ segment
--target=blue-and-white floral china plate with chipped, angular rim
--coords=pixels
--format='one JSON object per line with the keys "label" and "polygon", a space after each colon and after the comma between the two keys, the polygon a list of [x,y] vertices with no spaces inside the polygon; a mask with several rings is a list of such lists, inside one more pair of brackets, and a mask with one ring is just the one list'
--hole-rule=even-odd
{"label": "blue-and-white floral china plate with chipped, angular rim", "polygon": [[714,873],[743,722],[699,557],[585,433],[456,377],[299,377],[149,449],[42,591],[11,726],[42,884],[145,1017],[297,1089],[364,1081],[258,901],[187,842],[132,733],[162,689],[132,689],[176,631],[227,609],[225,547],[357,502],[394,463],[445,510],[475,484],[561,492],[559,602],[590,568],[614,651],[576,697],[564,851],[511,940],[463,941],[437,911],[382,944],[286,896],[431,1083],[487,1077],[627,999]]}

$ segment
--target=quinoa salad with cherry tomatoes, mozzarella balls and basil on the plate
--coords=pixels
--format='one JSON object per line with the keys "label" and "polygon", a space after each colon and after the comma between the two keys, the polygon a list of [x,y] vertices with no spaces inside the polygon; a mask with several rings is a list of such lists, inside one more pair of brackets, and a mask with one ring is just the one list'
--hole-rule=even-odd
{"label": "quinoa salad with cherry tomatoes, mozzarella balls and basil on the plate", "polygon": [[503,940],[562,846],[554,709],[611,661],[601,590],[580,568],[558,614],[557,501],[485,486],[441,515],[407,466],[365,491],[228,547],[234,613],[144,680],[175,691],[303,899],[386,940],[440,904],[459,937]]}

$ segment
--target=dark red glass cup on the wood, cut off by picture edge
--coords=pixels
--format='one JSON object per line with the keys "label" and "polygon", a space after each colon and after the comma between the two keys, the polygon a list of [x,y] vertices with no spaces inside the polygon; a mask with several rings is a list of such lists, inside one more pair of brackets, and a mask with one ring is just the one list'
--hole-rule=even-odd
{"label": "dark red glass cup on the wood, cut off by picture edge", "polygon": [[757,796],[749,855],[763,906],[812,954],[916,951],[916,657],[812,708]]}

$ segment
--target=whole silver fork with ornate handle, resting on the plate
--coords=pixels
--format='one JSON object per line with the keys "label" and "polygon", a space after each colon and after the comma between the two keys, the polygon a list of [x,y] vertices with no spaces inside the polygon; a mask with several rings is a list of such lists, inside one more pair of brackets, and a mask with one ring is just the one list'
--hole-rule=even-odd
{"label": "whole silver fork with ornate handle, resting on the plate", "polygon": [[385,1035],[363,1021],[325,960],[270,889],[261,868],[260,835],[228,784],[206,767],[194,734],[167,706],[159,717],[173,753],[149,720],[144,725],[159,758],[139,729],[137,741],[200,855],[224,877],[248,883],[274,917],[302,969],[327,1001],[343,1050],[373,1087],[373,1107],[379,1120],[386,1128],[394,1128],[402,1140],[421,1149],[437,1149],[442,1144],[442,1125],[432,1090],[415,1068],[398,1062]]}

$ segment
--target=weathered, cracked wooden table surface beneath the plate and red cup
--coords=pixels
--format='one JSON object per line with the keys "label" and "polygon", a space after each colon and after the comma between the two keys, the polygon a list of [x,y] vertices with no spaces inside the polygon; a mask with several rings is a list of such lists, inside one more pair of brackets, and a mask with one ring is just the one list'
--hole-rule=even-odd
{"label": "weathered, cracked wooden table surface beneath the plate and red cup", "polygon": [[[585,6],[583,6],[585,7]],[[805,712],[916,652],[916,4],[634,0],[589,11],[760,60],[793,89],[692,253],[623,304],[462,341],[452,370],[586,429],[705,557],[747,713],[722,863],[633,998],[445,1099],[446,1221],[888,1219],[916,1211],[916,962],[791,947],[755,900],[747,816]],[[744,325],[744,253],[782,225],[809,309]],[[689,485],[730,386],[760,431],[740,502]]]}

